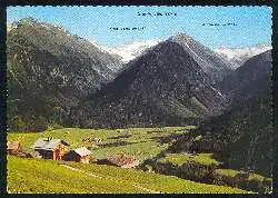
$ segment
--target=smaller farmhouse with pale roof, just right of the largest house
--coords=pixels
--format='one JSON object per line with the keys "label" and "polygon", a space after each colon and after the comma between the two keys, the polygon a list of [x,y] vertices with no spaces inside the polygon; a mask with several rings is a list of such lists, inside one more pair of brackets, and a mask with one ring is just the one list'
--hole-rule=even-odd
{"label": "smaller farmhouse with pale roof, just right of the largest house", "polygon": [[86,147],[70,150],[63,158],[64,160],[73,160],[77,162],[89,164],[91,159],[91,151]]}

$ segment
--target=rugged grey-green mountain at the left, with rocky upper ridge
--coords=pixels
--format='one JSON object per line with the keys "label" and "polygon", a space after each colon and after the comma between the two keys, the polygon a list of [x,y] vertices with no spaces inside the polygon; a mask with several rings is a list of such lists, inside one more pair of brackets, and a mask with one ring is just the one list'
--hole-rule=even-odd
{"label": "rugged grey-green mountain at the left, with rocky upper ridge", "polygon": [[61,123],[79,99],[113,80],[115,68],[121,68],[120,60],[60,27],[31,18],[10,24],[9,127],[36,130],[50,121]]}

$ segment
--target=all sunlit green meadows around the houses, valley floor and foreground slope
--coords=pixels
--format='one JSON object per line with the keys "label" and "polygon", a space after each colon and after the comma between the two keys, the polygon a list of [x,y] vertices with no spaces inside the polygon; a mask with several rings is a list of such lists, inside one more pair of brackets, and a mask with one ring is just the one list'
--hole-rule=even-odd
{"label": "all sunlit green meadows around the houses, valley floor and foreground slope", "polygon": [[[220,181],[205,184],[188,175],[193,171],[192,176],[199,172],[198,177],[205,177],[206,174],[211,175],[216,170],[215,174],[218,174],[217,177],[220,178],[231,171],[220,169],[212,154],[197,154],[196,156],[183,152],[170,154],[169,148],[176,140],[189,136],[193,130],[193,126],[187,126],[130,129],[62,128],[42,132],[9,132],[8,140],[19,141],[27,152],[32,152],[31,146],[37,139],[53,137],[69,142],[69,149],[87,147],[98,161],[113,155],[125,154],[135,156],[140,165],[137,169],[125,169],[93,161],[80,164],[9,155],[8,191],[77,194],[244,194],[256,191]],[[199,138],[199,136],[195,137],[196,140]],[[85,141],[87,139],[99,141]],[[170,169],[167,168],[169,164]],[[177,175],[183,171],[180,167],[187,167],[187,165],[193,165],[191,170],[187,170],[187,174],[181,176]],[[195,166],[200,170],[197,171]],[[235,175],[239,172],[235,171]],[[261,181],[265,179],[255,176],[250,176],[250,179],[259,178]]]}

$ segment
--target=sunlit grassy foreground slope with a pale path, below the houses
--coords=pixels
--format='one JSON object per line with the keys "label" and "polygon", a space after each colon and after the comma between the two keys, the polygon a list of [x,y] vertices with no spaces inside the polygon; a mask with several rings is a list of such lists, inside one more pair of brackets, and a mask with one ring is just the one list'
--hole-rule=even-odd
{"label": "sunlit grassy foreground slope with a pale path, below the houses", "polygon": [[[237,188],[198,184],[141,170],[106,165],[61,162],[8,157],[9,192],[227,192],[244,194]],[[117,185],[116,185],[117,184]]]}

